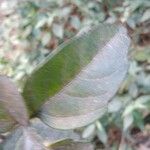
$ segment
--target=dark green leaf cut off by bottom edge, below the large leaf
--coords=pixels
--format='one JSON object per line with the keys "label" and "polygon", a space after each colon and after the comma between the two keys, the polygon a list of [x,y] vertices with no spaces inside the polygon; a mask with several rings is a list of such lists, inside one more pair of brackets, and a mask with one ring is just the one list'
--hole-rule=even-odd
{"label": "dark green leaf cut off by bottom edge, below the large leaf", "polygon": [[94,146],[90,143],[62,141],[51,145],[50,150],[94,150]]}

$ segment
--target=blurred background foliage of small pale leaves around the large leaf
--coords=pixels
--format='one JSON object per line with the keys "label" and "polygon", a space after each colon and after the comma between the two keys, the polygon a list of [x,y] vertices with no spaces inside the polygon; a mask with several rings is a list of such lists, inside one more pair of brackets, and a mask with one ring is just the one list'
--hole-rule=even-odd
{"label": "blurred background foliage of small pale leaves around the large leaf", "polygon": [[3,0],[0,20],[0,73],[19,87],[37,63],[81,28],[122,22],[132,38],[128,76],[108,114],[82,129],[82,136],[98,148],[145,146],[138,139],[150,137],[149,0]]}

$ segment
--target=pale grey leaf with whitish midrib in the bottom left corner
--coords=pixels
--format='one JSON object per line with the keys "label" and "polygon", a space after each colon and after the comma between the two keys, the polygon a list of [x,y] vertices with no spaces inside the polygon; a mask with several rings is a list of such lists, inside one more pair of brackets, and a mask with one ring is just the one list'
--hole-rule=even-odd
{"label": "pale grey leaf with whitish midrib in the bottom left corner", "polygon": [[40,137],[31,128],[20,127],[3,143],[3,150],[46,150]]}

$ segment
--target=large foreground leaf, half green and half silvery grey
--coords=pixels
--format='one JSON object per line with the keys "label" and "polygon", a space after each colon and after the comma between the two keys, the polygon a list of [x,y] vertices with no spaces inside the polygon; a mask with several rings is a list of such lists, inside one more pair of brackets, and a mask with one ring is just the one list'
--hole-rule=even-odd
{"label": "large foreground leaf, half green and half silvery grey", "polygon": [[105,113],[127,68],[130,39],[118,25],[100,24],[55,50],[27,80],[31,115],[54,128],[85,126]]}

